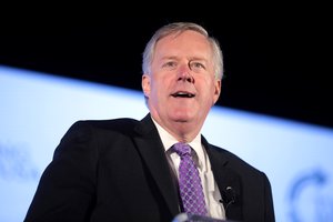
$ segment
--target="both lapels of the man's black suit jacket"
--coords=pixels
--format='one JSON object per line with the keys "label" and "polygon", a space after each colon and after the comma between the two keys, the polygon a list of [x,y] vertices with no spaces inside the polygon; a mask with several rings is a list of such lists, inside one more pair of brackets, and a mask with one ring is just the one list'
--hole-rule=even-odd
{"label": "both lapels of the man's black suit jacket", "polygon": [[[174,186],[171,169],[165,158],[164,149],[150,114],[147,114],[137,125],[134,137],[142,159],[148,165],[152,178],[158,184],[172,216],[180,213],[178,190]],[[230,164],[226,150],[211,145],[204,137],[202,143],[206,149],[214,179],[222,195],[222,202],[229,220],[242,220],[241,180]],[[231,190],[230,190],[231,189]]]}

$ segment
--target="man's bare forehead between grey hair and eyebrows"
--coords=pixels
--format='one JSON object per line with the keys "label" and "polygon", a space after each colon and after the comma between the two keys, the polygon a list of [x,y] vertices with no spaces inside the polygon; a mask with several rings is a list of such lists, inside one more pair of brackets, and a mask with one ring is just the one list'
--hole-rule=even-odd
{"label": "man's bare forehead between grey hair and eyebrows", "polygon": [[157,42],[155,59],[165,57],[194,57],[210,59],[211,46],[203,34],[188,30],[169,34]]}

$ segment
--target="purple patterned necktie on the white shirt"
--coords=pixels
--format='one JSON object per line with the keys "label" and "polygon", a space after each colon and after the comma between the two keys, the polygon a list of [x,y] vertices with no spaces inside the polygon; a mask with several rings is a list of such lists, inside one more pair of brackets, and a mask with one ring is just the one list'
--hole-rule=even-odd
{"label": "purple patterned necktie on the white shirt", "polygon": [[180,155],[179,188],[184,211],[192,214],[206,215],[203,189],[199,171],[191,157],[191,147],[186,143],[175,143],[174,151]]}

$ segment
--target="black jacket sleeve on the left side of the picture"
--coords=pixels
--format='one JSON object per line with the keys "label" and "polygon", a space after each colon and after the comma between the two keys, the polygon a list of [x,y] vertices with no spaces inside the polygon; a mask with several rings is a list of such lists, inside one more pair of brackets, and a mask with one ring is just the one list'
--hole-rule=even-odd
{"label": "black jacket sleeve on the left side of the picture", "polygon": [[89,221],[94,202],[97,145],[89,124],[74,123],[44,170],[24,222]]}

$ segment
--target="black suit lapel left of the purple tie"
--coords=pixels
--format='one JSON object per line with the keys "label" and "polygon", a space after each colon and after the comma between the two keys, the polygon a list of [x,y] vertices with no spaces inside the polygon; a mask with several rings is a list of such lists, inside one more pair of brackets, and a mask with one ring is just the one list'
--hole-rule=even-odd
{"label": "black suit lapel left of the purple tie", "polygon": [[178,191],[172,180],[162,141],[150,114],[140,122],[135,131],[140,134],[134,138],[138,150],[164,196],[170,212],[172,215],[176,215],[180,213]]}

